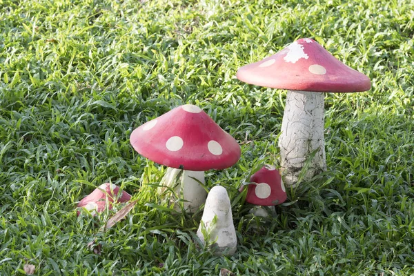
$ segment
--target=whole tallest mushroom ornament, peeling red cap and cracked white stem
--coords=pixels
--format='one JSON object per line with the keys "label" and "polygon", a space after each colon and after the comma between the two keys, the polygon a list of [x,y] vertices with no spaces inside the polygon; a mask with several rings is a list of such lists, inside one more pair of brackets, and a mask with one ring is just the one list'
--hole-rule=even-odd
{"label": "whole tallest mushroom ornament, peeling red cap and cracked white stem", "polygon": [[299,39],[262,61],[239,68],[237,79],[287,89],[279,137],[285,184],[295,186],[309,158],[304,180],[326,170],[324,93],[360,92],[371,88],[366,75],[346,66],[313,39]]}

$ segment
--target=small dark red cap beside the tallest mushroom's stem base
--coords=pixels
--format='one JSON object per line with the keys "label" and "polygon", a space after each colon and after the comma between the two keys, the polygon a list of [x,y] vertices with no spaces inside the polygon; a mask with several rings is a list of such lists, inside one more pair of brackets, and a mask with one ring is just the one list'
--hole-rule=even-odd
{"label": "small dark red cap beside the tallest mushroom's stem base", "polygon": [[[286,190],[279,174],[273,166],[264,166],[250,177],[256,185],[248,185],[246,202],[260,206],[282,204],[286,200]],[[241,189],[242,190],[242,189]]]}

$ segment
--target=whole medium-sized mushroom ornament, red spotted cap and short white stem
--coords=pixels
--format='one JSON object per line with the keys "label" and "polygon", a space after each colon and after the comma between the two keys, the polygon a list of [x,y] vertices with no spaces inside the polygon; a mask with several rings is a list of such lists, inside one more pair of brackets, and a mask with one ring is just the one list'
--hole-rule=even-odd
{"label": "whole medium-sized mushroom ornament, red spotted cap and short white stem", "polygon": [[241,155],[237,141],[191,104],[139,126],[132,132],[130,143],[140,155],[168,166],[161,184],[173,188],[184,199],[184,209],[191,213],[206,201],[207,192],[199,184],[205,183],[204,171],[233,166]]}

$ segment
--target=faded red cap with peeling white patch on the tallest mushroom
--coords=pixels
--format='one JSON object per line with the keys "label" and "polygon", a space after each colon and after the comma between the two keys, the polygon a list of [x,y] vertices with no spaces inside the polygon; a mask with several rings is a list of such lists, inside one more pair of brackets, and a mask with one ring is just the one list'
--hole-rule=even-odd
{"label": "faded red cap with peeling white patch on the tallest mushroom", "polygon": [[313,92],[371,88],[366,75],[346,66],[313,39],[298,39],[271,57],[239,68],[237,79],[257,86]]}

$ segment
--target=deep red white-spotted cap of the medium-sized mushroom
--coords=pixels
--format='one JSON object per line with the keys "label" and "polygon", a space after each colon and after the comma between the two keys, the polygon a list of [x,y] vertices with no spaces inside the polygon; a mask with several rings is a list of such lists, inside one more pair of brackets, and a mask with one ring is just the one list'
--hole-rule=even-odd
{"label": "deep red white-spotted cap of the medium-sized mushroom", "polygon": [[228,168],[241,154],[237,141],[191,104],[139,126],[132,132],[130,143],[140,155],[184,170]]}

